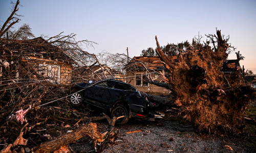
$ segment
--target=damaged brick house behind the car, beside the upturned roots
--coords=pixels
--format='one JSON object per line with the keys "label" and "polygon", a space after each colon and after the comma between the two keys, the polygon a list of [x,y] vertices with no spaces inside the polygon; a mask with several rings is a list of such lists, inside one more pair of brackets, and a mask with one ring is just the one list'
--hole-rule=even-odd
{"label": "damaged brick house behind the car, beside the upturned roots", "polygon": [[[172,60],[177,61],[177,56],[172,56]],[[147,82],[149,75],[156,81],[163,81],[159,72],[164,74],[165,77],[169,75],[158,56],[134,57],[126,65],[125,70],[126,83],[135,86],[139,91],[158,95],[168,95],[170,93],[166,88]]]}

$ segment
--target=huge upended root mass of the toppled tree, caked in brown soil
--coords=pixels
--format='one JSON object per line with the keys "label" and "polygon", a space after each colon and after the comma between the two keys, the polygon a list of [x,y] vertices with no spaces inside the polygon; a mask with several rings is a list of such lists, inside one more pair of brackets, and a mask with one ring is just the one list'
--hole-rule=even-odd
{"label": "huge upended root mass of the toppled tree, caked in brown soil", "polygon": [[[245,86],[238,64],[231,73],[221,71],[230,52],[228,37],[224,39],[219,30],[217,36],[207,37],[210,41],[199,41],[180,52],[177,61],[163,53],[156,37],[156,52],[170,72],[169,78],[162,77],[173,87],[176,105],[184,108],[185,117],[195,123],[199,132],[237,130],[243,125],[251,88]],[[237,55],[239,62],[243,57]]]}

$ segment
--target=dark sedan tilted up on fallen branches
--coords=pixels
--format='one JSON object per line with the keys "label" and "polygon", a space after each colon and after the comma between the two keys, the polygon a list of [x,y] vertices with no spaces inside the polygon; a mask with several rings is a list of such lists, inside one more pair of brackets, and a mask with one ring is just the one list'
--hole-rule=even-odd
{"label": "dark sedan tilted up on fallen branches", "polygon": [[124,116],[117,123],[124,124],[130,118],[153,119],[159,117],[154,110],[159,104],[150,103],[147,96],[130,84],[108,79],[93,83],[77,83],[71,88],[70,103],[83,103],[108,110],[112,117]]}

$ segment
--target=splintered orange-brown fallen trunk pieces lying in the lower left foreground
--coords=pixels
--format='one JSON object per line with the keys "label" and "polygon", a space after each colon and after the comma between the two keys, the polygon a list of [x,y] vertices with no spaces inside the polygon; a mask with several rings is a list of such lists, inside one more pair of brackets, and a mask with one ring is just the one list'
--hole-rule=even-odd
{"label": "splintered orange-brown fallen trunk pieces lying in the lower left foreground", "polygon": [[[103,119],[108,120],[109,127],[104,133],[100,133],[98,131],[96,123],[90,122],[89,124],[82,125],[75,132],[63,134],[55,139],[41,143],[40,145],[33,147],[31,151],[38,152],[38,153],[39,152],[55,152],[55,151],[61,152],[60,150],[70,151],[67,146],[70,143],[74,143],[75,141],[85,136],[89,136],[92,139],[95,151],[102,151],[107,143],[113,143],[115,138],[117,137],[118,130],[115,129],[114,126],[115,126],[116,120],[122,117],[123,116],[114,117],[113,119],[111,119],[109,116],[105,114],[102,117],[93,117],[91,119],[94,121],[100,121]],[[26,125],[28,125],[28,123]],[[28,140],[23,138],[23,134],[24,134],[23,129],[24,128],[22,128],[22,130],[20,131],[18,138],[12,144],[6,145],[6,147],[2,149],[0,152],[11,152],[11,147],[13,147],[12,151],[15,151],[16,149],[15,146],[27,145]],[[97,144],[100,144],[100,145],[97,145]]]}

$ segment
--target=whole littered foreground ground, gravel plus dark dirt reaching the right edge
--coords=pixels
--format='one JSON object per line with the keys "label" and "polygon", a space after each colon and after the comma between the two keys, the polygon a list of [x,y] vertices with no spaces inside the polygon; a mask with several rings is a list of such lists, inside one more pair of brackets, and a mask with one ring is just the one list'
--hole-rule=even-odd
{"label": "whole littered foreground ground, gravel plus dark dirt reaching the right edge", "polygon": [[[100,123],[99,127],[105,127]],[[115,144],[103,152],[256,152],[255,137],[240,134],[198,135],[191,124],[183,119],[170,117],[159,121],[131,120],[116,125],[119,136]],[[131,131],[136,133],[126,134]],[[251,141],[253,140],[253,141]],[[230,146],[232,150],[227,149]],[[94,152],[90,139],[83,138],[70,145],[74,152]]]}

